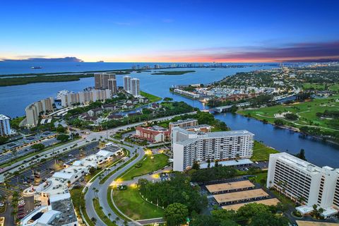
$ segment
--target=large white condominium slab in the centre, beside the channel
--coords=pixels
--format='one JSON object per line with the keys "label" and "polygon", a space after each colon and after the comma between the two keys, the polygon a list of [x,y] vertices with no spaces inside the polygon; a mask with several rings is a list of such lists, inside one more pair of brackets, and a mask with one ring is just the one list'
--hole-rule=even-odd
{"label": "large white condominium slab in the centre, beside the channel", "polygon": [[252,156],[254,134],[246,130],[194,132],[172,129],[173,170],[189,169],[194,161],[234,160]]}

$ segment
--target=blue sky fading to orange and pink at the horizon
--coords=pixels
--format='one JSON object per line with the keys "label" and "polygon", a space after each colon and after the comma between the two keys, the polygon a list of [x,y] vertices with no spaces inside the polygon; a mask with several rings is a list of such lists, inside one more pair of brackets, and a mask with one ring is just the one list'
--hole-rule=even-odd
{"label": "blue sky fading to orange and pink at the horizon", "polygon": [[7,1],[0,7],[0,59],[337,59],[338,6],[338,1]]}

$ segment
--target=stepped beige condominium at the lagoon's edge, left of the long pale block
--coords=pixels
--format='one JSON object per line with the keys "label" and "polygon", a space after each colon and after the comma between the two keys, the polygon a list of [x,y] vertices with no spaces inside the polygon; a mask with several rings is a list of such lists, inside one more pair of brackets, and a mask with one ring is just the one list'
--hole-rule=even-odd
{"label": "stepped beige condominium at the lagoon's edge, left of the long pale block", "polygon": [[42,114],[47,114],[49,112],[54,112],[54,99],[49,97],[44,100],[39,100],[34,102],[28,107],[25,108],[26,113],[26,126],[35,127],[39,122],[39,116]]}

